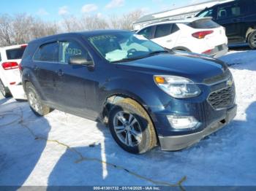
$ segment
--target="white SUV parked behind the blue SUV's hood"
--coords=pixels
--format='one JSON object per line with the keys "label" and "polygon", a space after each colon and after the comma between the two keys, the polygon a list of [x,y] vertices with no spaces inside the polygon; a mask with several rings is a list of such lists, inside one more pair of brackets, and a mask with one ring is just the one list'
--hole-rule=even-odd
{"label": "white SUV parked behind the blue SUV's hood", "polygon": [[154,23],[137,34],[172,50],[184,50],[218,58],[227,53],[225,28],[211,17],[193,17]]}

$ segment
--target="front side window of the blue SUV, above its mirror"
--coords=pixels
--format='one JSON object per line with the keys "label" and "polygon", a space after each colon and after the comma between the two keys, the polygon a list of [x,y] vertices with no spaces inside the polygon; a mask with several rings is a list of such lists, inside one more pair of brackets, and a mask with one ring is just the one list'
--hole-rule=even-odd
{"label": "front side window of the blue SUV, above its mirror", "polygon": [[81,56],[87,61],[92,61],[89,52],[78,42],[59,42],[59,62],[69,64],[69,59],[74,56]]}

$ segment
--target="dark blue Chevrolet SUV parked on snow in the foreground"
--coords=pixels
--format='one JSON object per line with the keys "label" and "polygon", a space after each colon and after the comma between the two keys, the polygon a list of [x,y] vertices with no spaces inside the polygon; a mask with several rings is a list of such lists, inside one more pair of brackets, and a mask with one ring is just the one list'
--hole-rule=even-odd
{"label": "dark blue Chevrolet SUV parked on snow in the foreground", "polygon": [[222,61],[168,52],[129,31],[59,34],[29,43],[21,61],[32,111],[108,121],[123,149],[178,150],[236,115],[233,77]]}

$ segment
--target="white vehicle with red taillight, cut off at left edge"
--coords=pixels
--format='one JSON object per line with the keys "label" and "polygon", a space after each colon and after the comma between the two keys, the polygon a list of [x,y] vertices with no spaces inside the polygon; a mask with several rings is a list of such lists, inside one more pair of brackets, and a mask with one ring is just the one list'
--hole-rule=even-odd
{"label": "white vehicle with red taillight, cut off at left edge", "polygon": [[5,98],[26,99],[19,64],[27,44],[0,47],[0,92]]}

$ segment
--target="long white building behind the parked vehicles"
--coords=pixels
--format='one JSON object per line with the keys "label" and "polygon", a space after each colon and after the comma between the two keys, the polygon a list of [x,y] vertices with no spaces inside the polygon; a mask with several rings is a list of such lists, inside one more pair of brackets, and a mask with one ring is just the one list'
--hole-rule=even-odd
{"label": "long white building behind the parked vehicles", "polygon": [[160,22],[163,20],[179,20],[186,17],[194,17],[198,12],[206,9],[206,7],[212,7],[215,4],[222,4],[227,1],[233,0],[211,0],[200,4],[192,4],[186,7],[180,7],[178,9],[171,9],[164,12],[145,15],[133,23],[133,28],[134,30],[140,30],[140,28],[143,28],[148,24]]}

